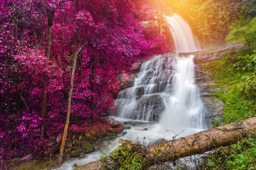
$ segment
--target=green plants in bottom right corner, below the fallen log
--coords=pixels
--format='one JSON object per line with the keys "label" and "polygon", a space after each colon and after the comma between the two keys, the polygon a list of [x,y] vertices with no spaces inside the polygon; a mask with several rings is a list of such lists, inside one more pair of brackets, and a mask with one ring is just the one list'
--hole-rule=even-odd
{"label": "green plants in bottom right corner, below the fallen log", "polygon": [[206,169],[255,169],[256,133],[243,138],[230,147],[221,147],[211,153]]}

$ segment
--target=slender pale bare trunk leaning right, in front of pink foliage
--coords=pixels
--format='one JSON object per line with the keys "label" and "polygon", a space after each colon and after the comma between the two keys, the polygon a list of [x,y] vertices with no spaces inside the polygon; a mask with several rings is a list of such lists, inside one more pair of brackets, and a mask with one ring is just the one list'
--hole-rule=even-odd
{"label": "slender pale bare trunk leaning right, in front of pink foliage", "polygon": [[79,50],[76,51],[75,56],[74,56],[74,60],[73,60],[71,80],[70,80],[70,88],[69,88],[69,91],[68,91],[67,118],[66,118],[65,127],[64,127],[64,130],[63,130],[63,136],[62,136],[61,146],[60,146],[60,155],[58,156],[57,166],[60,166],[61,159],[62,159],[62,156],[63,156],[63,151],[64,151],[64,148],[65,148],[66,139],[67,139],[68,124],[69,124],[70,109],[71,109],[72,91],[73,91],[73,87],[74,87],[74,76],[75,76],[75,71],[76,71],[77,55],[78,55],[79,52],[81,52],[81,50],[83,49],[84,45],[86,45],[87,43],[88,42],[84,43],[79,48]]}

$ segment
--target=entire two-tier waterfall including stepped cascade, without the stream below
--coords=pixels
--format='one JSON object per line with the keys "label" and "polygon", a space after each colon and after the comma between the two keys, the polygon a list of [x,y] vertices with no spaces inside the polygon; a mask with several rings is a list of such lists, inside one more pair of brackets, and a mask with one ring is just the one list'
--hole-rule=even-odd
{"label": "entire two-tier waterfall including stepped cascade, without the stream below", "polygon": [[159,122],[166,129],[205,129],[204,104],[195,85],[194,55],[200,50],[188,23],[166,17],[176,53],[156,55],[141,65],[133,87],[118,94],[118,117]]}

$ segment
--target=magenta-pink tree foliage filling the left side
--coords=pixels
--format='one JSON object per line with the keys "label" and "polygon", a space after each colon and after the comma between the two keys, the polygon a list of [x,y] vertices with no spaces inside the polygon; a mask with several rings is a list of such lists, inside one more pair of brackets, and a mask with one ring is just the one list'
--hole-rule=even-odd
{"label": "magenta-pink tree foliage filling the left side", "polygon": [[[53,152],[60,142],[74,52],[78,55],[70,133],[108,129],[102,115],[120,90],[118,74],[134,62],[170,51],[152,20],[154,6],[131,0],[0,0],[0,160]],[[146,13],[146,9],[150,13]],[[47,12],[54,11],[50,59],[45,57]],[[140,11],[140,12],[139,12]],[[138,15],[141,13],[143,15]],[[40,139],[42,91],[47,92],[46,138]],[[97,122],[101,122],[97,126]]]}

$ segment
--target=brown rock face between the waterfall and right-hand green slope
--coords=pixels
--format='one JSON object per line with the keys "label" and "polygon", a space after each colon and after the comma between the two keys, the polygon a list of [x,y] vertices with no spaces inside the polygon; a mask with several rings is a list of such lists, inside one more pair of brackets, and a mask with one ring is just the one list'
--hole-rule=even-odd
{"label": "brown rock face between the waterfall and right-hand green slope", "polygon": [[213,60],[221,59],[223,52],[229,51],[231,48],[238,49],[241,46],[241,44],[235,44],[224,48],[194,53],[196,84],[200,88],[202,102],[207,108],[205,120],[207,121],[209,128],[211,128],[212,118],[218,119],[222,117],[225,104],[218,99],[218,97],[214,96],[215,92],[220,92],[222,89],[213,81],[213,78],[209,75],[207,67],[211,66]]}

